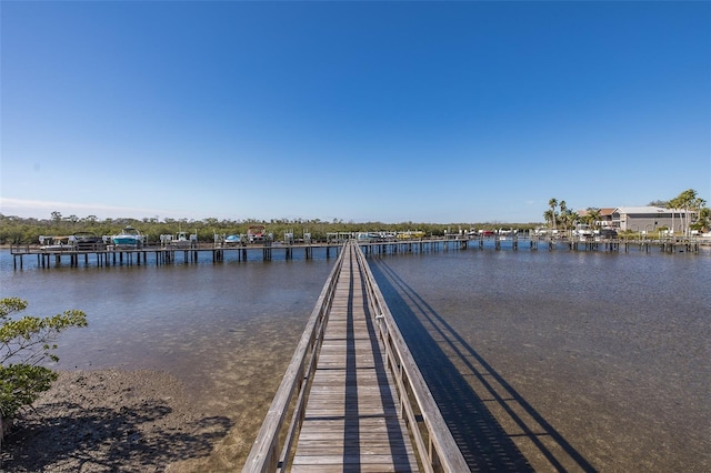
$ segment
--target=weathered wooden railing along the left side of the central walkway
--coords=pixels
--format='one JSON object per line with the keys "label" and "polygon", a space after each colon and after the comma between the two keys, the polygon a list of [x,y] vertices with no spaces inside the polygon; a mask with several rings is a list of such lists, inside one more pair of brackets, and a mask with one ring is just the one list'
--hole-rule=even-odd
{"label": "weathered wooden railing along the left side of the central walkway", "polygon": [[[327,323],[326,318],[328,316],[333,300],[338,274],[343,264],[344,254],[346,245],[342,246],[341,254],[336,260],[336,264],[329,274],[327,283],[323,285],[316,308],[313,312],[311,312],[299,345],[281,380],[281,384],[277,390],[277,394],[264,417],[264,422],[254,440],[254,444],[247,457],[242,472],[274,472],[287,470],[288,456],[291,451],[294,434],[303,420],[307,384],[309,384],[311,374],[316,370],[319,349],[323,340],[323,330]],[[287,411],[293,402],[296,402],[296,404],[291,415],[291,422],[288,430],[282,432]],[[282,434],[284,437],[280,439]]]}

